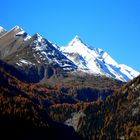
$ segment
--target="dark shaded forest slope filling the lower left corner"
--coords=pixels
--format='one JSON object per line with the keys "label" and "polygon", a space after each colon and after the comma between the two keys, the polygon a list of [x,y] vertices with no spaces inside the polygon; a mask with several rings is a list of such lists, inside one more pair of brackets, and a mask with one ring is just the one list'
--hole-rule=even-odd
{"label": "dark shaded forest slope filling the lower left corner", "polygon": [[[72,127],[54,122],[45,111],[47,106],[41,106],[40,101],[43,101],[43,97],[49,98],[48,92],[41,95],[41,91],[35,85],[19,81],[5,71],[4,67],[0,67],[0,77],[2,139],[81,140]],[[49,102],[48,98],[46,102]]]}

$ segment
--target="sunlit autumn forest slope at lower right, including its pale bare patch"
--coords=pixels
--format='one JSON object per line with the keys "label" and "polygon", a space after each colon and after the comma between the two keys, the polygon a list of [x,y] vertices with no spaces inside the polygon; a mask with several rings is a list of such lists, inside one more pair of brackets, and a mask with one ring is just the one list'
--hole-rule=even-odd
{"label": "sunlit autumn forest slope at lower right, including its pale bare patch", "polygon": [[105,101],[56,104],[48,114],[72,126],[85,140],[139,140],[140,76]]}

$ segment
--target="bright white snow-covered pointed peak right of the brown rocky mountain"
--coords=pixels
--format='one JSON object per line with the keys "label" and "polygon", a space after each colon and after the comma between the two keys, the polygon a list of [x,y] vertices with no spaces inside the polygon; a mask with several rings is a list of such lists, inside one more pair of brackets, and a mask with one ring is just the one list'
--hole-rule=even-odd
{"label": "bright white snow-covered pointed peak right of the brown rocky mountain", "polygon": [[102,49],[90,49],[78,36],[60,50],[83,72],[106,75],[125,82],[139,75],[132,68],[119,65]]}

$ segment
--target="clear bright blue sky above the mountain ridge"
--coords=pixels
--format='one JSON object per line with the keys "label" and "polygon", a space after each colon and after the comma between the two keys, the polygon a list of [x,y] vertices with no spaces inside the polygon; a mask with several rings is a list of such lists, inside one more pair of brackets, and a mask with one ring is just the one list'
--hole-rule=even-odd
{"label": "clear bright blue sky above the mountain ridge", "polygon": [[0,25],[66,45],[78,35],[140,72],[140,0],[0,0]]}

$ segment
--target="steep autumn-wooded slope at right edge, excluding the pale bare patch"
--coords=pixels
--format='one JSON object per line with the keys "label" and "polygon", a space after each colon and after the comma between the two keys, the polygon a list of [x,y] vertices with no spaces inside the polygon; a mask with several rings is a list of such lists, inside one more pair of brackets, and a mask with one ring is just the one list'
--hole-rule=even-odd
{"label": "steep autumn-wooded slope at right edge, excluding the pale bare patch", "polygon": [[105,102],[89,105],[84,113],[86,118],[79,124],[78,131],[88,139],[139,140],[140,76],[121,87]]}

